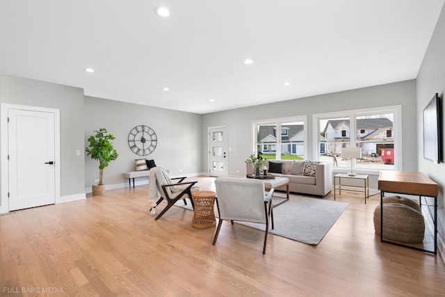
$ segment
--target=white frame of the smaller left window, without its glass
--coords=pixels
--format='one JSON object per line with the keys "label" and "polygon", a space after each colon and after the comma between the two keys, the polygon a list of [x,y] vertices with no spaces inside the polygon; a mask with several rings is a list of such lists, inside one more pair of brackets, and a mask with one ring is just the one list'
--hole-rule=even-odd
{"label": "white frame of the smaller left window, without its glass", "polygon": [[[257,154],[257,127],[259,125],[276,125],[277,131],[280,131],[280,141],[277,139],[277,143],[270,143],[270,145],[275,145],[275,158],[277,160],[281,160],[281,147],[282,145],[288,145],[291,143],[282,143],[281,142],[281,131],[282,131],[282,124],[286,122],[302,122],[303,127],[305,129],[305,136],[304,136],[304,155],[302,156],[305,160],[307,160],[307,115],[297,115],[295,117],[286,117],[286,118],[272,118],[272,119],[266,119],[266,120],[252,120],[250,122],[250,126],[252,127],[252,135],[251,135],[251,147],[252,152]],[[264,145],[264,144],[261,144]]]}

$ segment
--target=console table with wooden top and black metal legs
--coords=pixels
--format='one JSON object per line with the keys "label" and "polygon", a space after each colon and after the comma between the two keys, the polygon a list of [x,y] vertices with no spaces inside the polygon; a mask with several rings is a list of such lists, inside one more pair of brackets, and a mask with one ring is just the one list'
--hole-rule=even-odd
{"label": "console table with wooden top and black metal legs", "polygon": [[[378,188],[380,190],[380,207],[382,209],[382,211],[380,211],[380,242],[391,243],[396,246],[403,246],[423,252],[432,252],[434,255],[437,255],[437,195],[439,195],[439,186],[422,172],[381,170],[378,177]],[[425,250],[423,248],[383,240],[383,196],[385,192],[418,195],[419,204],[421,204],[422,196],[434,198],[434,250]]]}

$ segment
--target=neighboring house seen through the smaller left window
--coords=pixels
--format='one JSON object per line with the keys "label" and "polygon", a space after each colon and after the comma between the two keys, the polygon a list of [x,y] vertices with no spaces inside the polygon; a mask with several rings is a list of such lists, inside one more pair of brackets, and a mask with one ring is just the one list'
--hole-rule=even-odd
{"label": "neighboring house seen through the smaller left window", "polygon": [[[305,154],[305,127],[304,125],[282,125],[281,127],[281,153],[303,156]],[[259,126],[258,143],[261,154],[275,154],[277,151],[277,127]]]}

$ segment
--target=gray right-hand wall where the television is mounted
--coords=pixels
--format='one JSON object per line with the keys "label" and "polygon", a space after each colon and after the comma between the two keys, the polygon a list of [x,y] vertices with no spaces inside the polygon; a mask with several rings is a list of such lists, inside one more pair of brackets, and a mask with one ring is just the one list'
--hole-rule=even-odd
{"label": "gray right-hand wall where the television is mounted", "polygon": [[445,160],[436,164],[423,159],[423,109],[435,93],[439,93],[442,104],[442,156],[444,156],[444,140],[445,140],[445,8],[436,25],[436,29],[430,40],[430,45],[423,58],[419,74],[416,79],[417,83],[417,162],[419,163],[419,171],[425,173],[439,184],[438,197],[438,229],[439,229],[439,250],[442,259],[445,262],[445,214],[444,214],[444,185],[445,185]]}

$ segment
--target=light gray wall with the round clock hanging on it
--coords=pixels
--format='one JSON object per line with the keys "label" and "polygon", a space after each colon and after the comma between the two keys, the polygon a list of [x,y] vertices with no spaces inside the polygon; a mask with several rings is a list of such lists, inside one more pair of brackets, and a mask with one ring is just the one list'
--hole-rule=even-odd
{"label": "light gray wall with the round clock hanging on it", "polygon": [[[118,159],[104,169],[104,184],[107,188],[128,186],[123,172],[134,171],[135,159],[154,159],[156,166],[170,170],[170,175],[191,176],[200,172],[202,154],[201,115],[172,111],[96,97],[85,97],[85,147],[94,130],[106,128],[115,136],[113,145]],[[154,152],[147,156],[134,154],[128,144],[128,135],[133,127],[151,127],[158,138]],[[86,154],[84,152],[84,154]],[[88,192],[95,179],[99,178],[99,163],[86,156],[85,188]],[[147,178],[136,179],[136,185],[147,184]]]}

